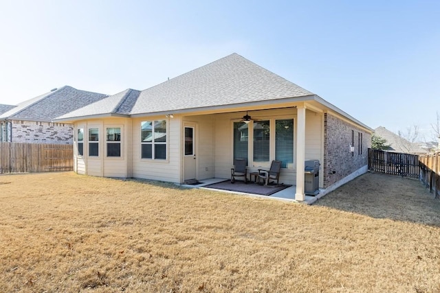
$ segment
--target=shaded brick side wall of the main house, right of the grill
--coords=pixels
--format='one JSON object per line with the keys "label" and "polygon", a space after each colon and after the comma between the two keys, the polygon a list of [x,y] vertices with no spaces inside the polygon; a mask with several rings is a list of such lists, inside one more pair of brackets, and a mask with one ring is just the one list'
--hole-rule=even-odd
{"label": "shaded brick side wall of the main house, right of the grill", "polygon": [[[371,134],[329,113],[325,114],[324,187],[368,165]],[[362,139],[361,139],[362,137]],[[354,147],[351,152],[350,146]]]}

